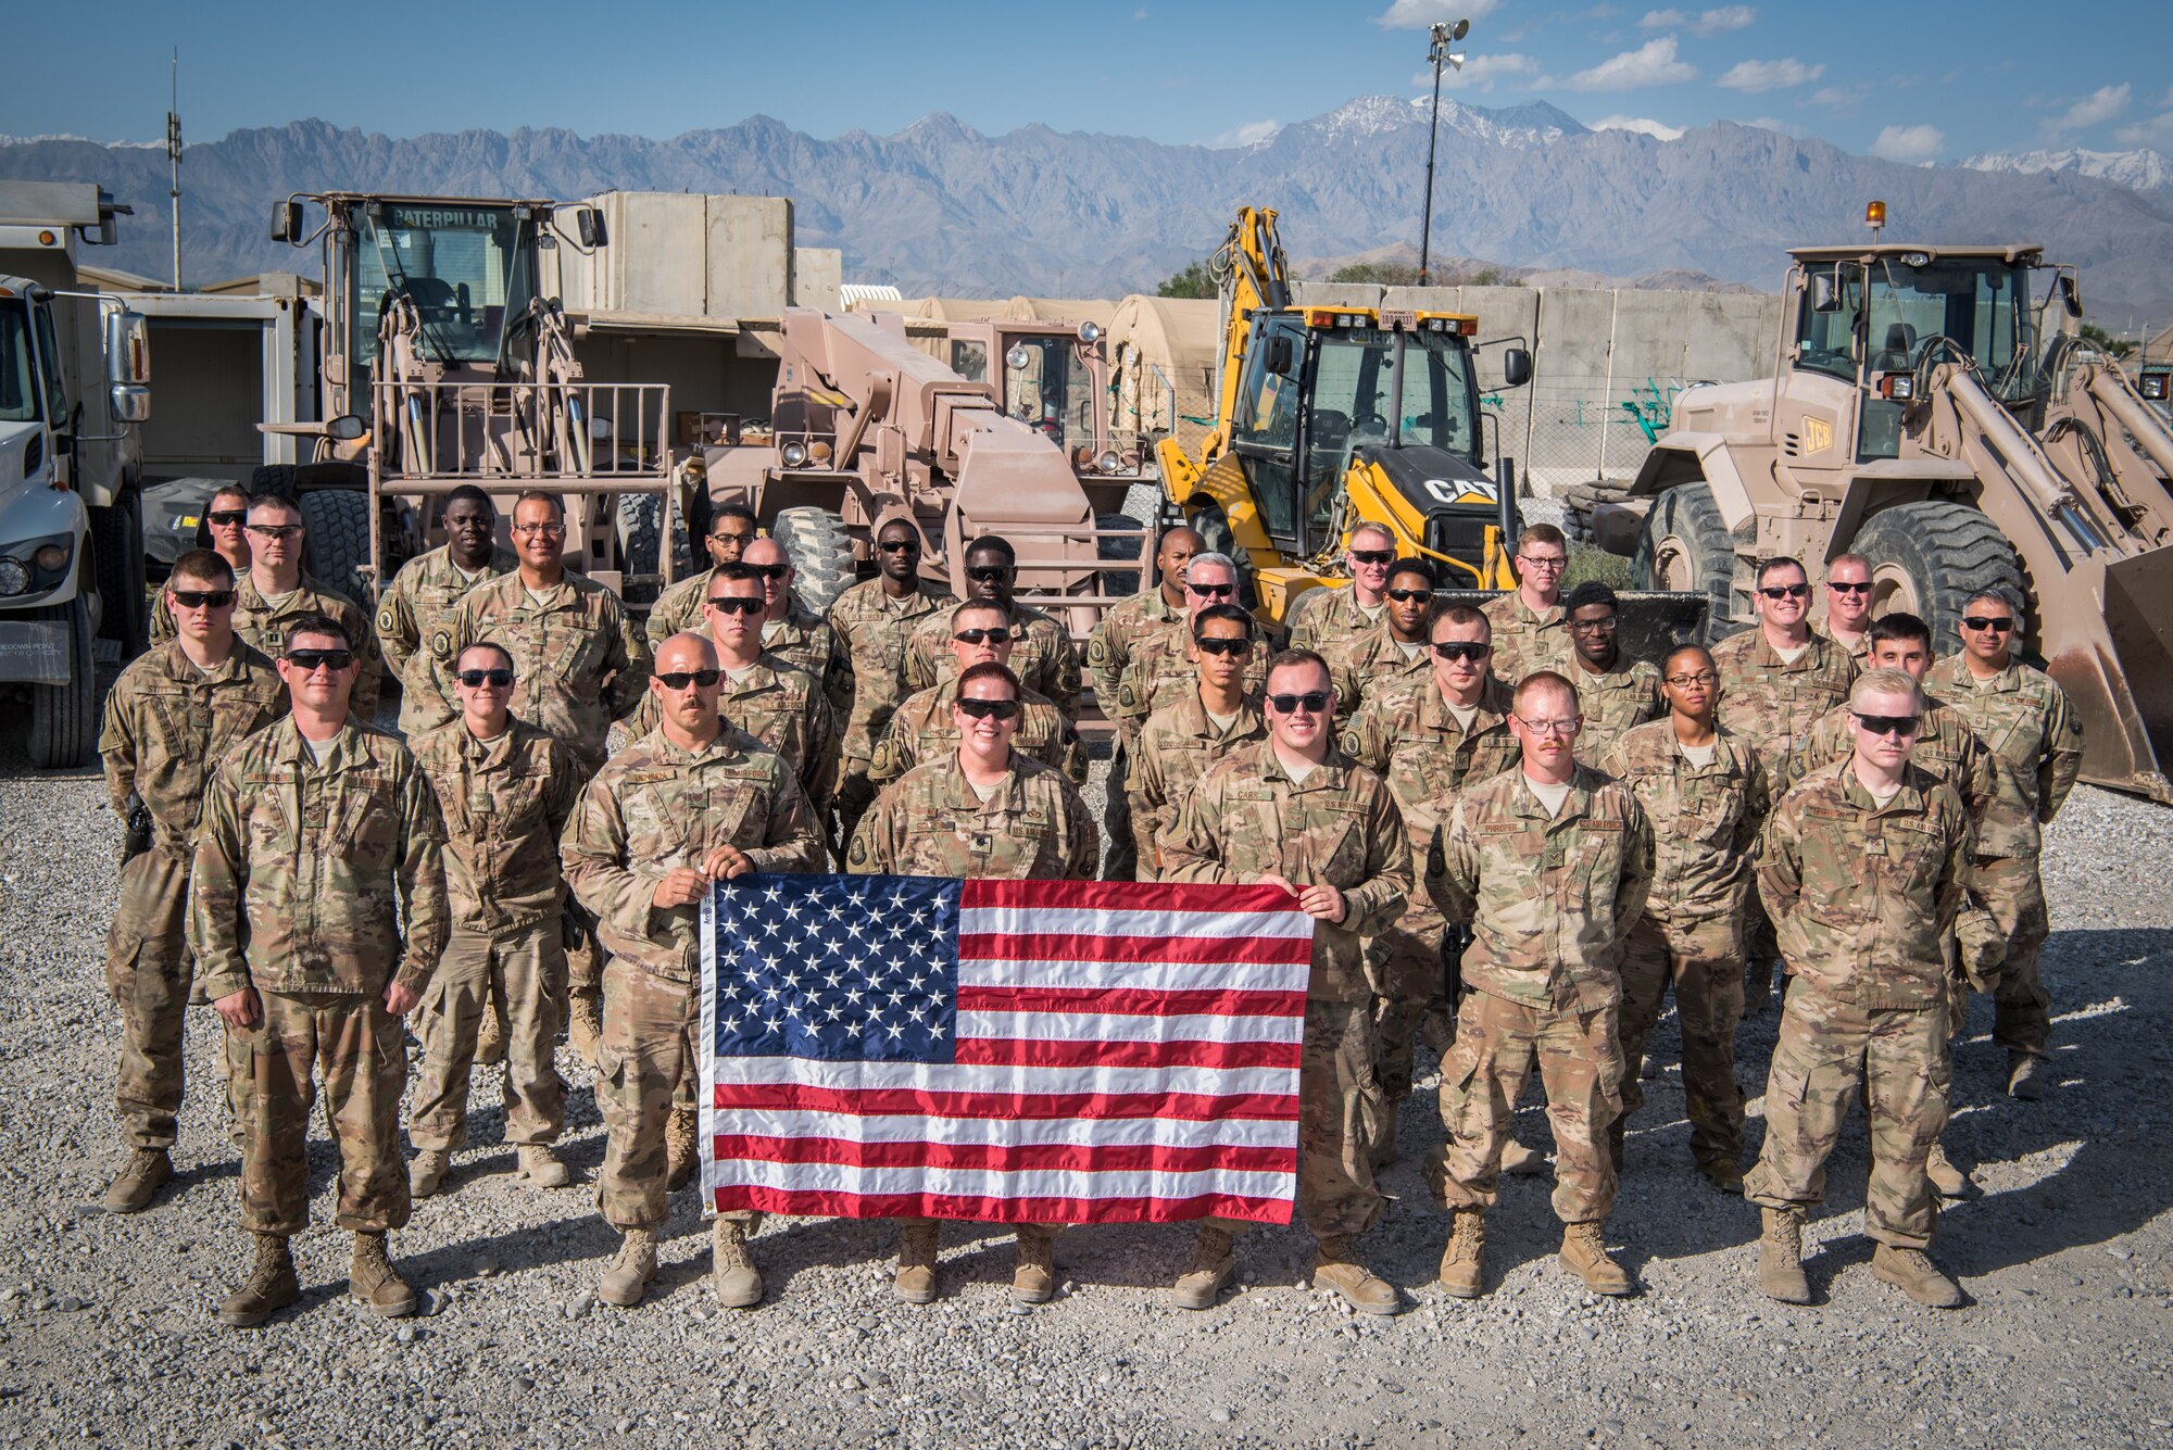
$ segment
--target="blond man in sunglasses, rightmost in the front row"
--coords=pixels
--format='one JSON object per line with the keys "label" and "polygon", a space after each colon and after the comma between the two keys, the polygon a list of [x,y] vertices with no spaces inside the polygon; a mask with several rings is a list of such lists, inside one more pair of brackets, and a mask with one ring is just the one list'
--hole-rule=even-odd
{"label": "blond man in sunglasses, rightmost in the front row", "polygon": [[1758,844],[1758,888],[1795,977],[1767,1081],[1767,1140],[1743,1196],[1764,1209],[1758,1285],[1810,1302],[1801,1222],[1825,1196],[1825,1159],[1862,1092],[1871,1109],[1871,1272],[1951,1309],[1954,1281],[1923,1255],[1938,1200],[1925,1159],[1947,1122],[1947,933],[1969,875],[1954,788],[1908,762],[1923,695],[1877,669],[1849,697],[1856,751],[1804,777]]}

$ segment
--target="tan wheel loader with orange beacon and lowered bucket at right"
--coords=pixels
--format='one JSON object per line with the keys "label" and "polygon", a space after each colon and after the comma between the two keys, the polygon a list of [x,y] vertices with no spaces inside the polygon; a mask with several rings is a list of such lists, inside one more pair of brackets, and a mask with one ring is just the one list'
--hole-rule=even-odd
{"label": "tan wheel loader with orange beacon and lowered bucket at right", "polygon": [[2173,801],[2173,434],[2080,336],[2040,247],[1791,252],[1762,382],[1675,397],[1595,532],[1651,588],[1745,627],[1758,558],[1871,560],[1873,612],[1958,643],[1971,590],[2027,603],[2025,645],[2075,701],[2084,777]]}

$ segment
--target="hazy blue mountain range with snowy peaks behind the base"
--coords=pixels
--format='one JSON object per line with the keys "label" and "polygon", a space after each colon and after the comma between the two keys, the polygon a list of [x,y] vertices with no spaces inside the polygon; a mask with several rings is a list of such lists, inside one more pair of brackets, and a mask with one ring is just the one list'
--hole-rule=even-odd
{"label": "hazy blue mountain range with snowy peaks behind the base", "polygon": [[[315,254],[265,239],[289,191],[741,191],[791,195],[795,241],[841,247],[854,282],[1121,295],[1210,252],[1241,202],[1282,213],[1291,256],[1417,243],[1425,150],[1425,104],[1382,96],[1236,148],[1047,126],[987,137],[943,113],[889,137],[819,139],[758,115],[663,141],[528,128],[393,139],[302,119],[187,150],[183,256],[191,282],[315,271]],[[1445,100],[1432,250],[1543,276],[1684,271],[1773,289],[1784,247],[1862,237],[1862,204],[1882,198],[1893,239],[2043,243],[2082,269],[2084,300],[2112,330],[2173,315],[2173,191],[2006,161],[1910,167],[1732,122],[1660,139],[1591,130],[1543,102]],[[0,139],[0,176],[109,187],[135,215],[102,260],[167,271],[163,150]]]}

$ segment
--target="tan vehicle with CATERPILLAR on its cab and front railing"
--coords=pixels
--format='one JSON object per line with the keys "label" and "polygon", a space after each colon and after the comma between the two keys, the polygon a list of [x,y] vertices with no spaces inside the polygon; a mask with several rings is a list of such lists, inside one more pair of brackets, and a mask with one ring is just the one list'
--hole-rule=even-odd
{"label": "tan vehicle with CATERPILLAR on its cab and front railing", "polygon": [[[306,228],[304,204],[324,219]],[[567,230],[567,224],[571,230]],[[643,597],[674,573],[669,389],[587,382],[558,300],[558,247],[606,243],[589,206],[296,193],[272,239],[324,252],[324,417],[259,469],[309,523],[309,571],[369,603],[443,538],[443,497],[476,484],[500,519],[526,488],[567,506],[567,564]]]}

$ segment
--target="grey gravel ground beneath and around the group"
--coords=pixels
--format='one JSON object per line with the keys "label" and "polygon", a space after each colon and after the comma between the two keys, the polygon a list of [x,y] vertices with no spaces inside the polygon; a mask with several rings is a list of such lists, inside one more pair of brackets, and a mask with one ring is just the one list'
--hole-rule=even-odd
{"label": "grey gravel ground beneath and around the group", "polygon": [[[15,727],[0,727],[13,736]],[[1097,764],[1097,777],[1106,766]],[[1408,1313],[1354,1318],[1304,1285],[1308,1244],[1256,1231],[1241,1292],[1182,1313],[1163,1289],[1186,1229],[1076,1229],[1065,1289],[1015,1313],[1010,1242],[945,1226],[945,1298],[889,1296],[887,1224],[771,1220],[769,1300],[719,1311],[708,1235],[674,1200],[650,1300],[593,1287],[615,1235],[589,1187],[511,1176],[495,1068],[476,1070],[474,1144],[452,1192],[417,1205],[393,1255],[428,1318],[348,1302],[330,1226],[335,1153],[311,1148],[317,1226],[296,1242],[304,1300],[259,1331],[213,1311],[248,1270],[235,1155],[213,1079],[215,1018],[196,1012],[178,1181],[141,1216],[96,1205],[122,1159],[111,1109],[117,1014],[102,981],[117,827],[93,773],[33,775],[0,740],[0,1439],[332,1446],[1432,1446],[1495,1443],[2173,1443],[2173,812],[2077,790],[2051,831],[2058,1088],[1999,1096],[1980,1003],[1956,1061],[1949,1153],[1982,1192],[1936,1255],[1971,1307],[1917,1309],[1869,1274],[1862,1122],[1810,1226],[1819,1307],[1760,1298],[1756,1211],[1688,1168],[1673,1022],[1630,1137],[1608,1237],[1643,1292],[1597,1300],[1554,1261],[1545,1181],[1510,1181],[1491,1220],[1484,1300],[1432,1287],[1443,1216],[1412,1146],[1439,1142],[1421,1083],[1389,1170],[1399,1196],[1365,1242]],[[1762,1083],[1769,1009],[1743,1031]],[[593,1179],[604,1131],[574,1081],[567,1157]],[[1545,1144],[1530,1105],[1519,1135]],[[1762,1129],[1751,1101],[1754,1140]]]}

